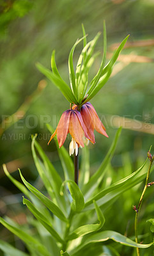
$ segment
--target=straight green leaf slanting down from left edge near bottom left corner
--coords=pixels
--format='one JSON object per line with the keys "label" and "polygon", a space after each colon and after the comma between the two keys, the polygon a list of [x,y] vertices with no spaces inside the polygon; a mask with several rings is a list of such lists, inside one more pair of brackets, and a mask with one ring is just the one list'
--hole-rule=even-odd
{"label": "straight green leaf slanting down from left edge near bottom left corner", "polygon": [[13,227],[13,225],[11,225],[10,223],[7,223],[1,217],[0,217],[0,223],[4,227],[8,228],[8,230],[10,230],[13,234],[15,234],[15,236],[18,236],[20,239],[22,239],[22,241],[24,241],[25,244],[38,250],[38,252],[40,252],[41,255],[50,256],[50,254],[46,251],[46,248],[42,244],[40,244],[39,241],[37,239],[35,239],[34,237],[30,236],[29,234],[27,234],[20,228]]}

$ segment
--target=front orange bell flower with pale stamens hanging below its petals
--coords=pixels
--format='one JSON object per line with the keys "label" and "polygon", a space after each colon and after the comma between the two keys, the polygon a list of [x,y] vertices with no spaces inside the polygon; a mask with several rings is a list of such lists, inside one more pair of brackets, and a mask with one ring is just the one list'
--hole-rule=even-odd
{"label": "front orange bell flower with pale stamens hanging below its petals", "polygon": [[[77,152],[76,143],[78,147],[80,145],[81,147],[84,147],[83,138],[86,137],[90,140],[81,113],[76,109],[69,109],[62,113],[59,124],[57,125],[55,132],[53,132],[50,141],[53,139],[55,134],[57,134],[59,147],[62,147],[68,133],[70,133],[73,138],[73,142],[71,141],[70,144],[70,152],[74,152],[73,149]],[[50,141],[48,141],[48,144]]]}

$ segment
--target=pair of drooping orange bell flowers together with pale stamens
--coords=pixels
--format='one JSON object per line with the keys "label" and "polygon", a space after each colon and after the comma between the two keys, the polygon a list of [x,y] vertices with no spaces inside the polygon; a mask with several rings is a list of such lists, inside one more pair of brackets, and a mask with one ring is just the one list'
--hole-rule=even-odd
{"label": "pair of drooping orange bell flowers together with pale stamens", "polygon": [[[84,143],[90,140],[95,143],[94,129],[108,137],[106,129],[97,115],[94,107],[90,102],[81,106],[80,111],[78,106],[74,105],[73,109],[68,109],[62,113],[59,124],[53,132],[50,141],[57,134],[59,147],[62,147],[68,133],[71,134],[72,140],[69,145],[69,154],[78,154],[78,147],[84,147]],[[48,144],[50,143],[48,141]]]}

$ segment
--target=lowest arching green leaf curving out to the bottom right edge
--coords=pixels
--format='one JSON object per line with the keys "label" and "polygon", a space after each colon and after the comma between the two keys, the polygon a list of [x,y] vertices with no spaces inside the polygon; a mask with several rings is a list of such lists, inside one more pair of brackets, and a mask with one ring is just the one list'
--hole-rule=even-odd
{"label": "lowest arching green leaf curving out to the bottom right edge", "polygon": [[108,241],[109,239],[112,239],[116,243],[138,248],[148,248],[153,244],[138,244],[128,237],[119,234],[118,232],[106,230],[89,236],[80,246],[71,251],[71,255],[75,256],[77,252],[81,252],[81,250],[87,245],[90,246],[90,244],[102,243],[104,241]]}

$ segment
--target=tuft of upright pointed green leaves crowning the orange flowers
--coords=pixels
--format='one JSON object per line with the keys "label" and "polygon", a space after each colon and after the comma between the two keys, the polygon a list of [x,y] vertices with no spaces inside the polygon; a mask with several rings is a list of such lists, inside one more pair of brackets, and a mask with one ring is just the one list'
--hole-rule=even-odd
{"label": "tuft of upright pointed green leaves crowning the orange flowers", "polygon": [[[94,54],[95,45],[101,33],[97,33],[94,39],[87,43],[87,38],[85,35],[85,29],[82,25],[83,29],[83,37],[75,42],[70,53],[68,60],[69,67],[69,81],[70,86],[64,82],[62,77],[60,77],[59,71],[57,70],[57,66],[55,63],[55,51],[52,52],[51,66],[52,70],[43,67],[40,63],[36,63],[36,67],[38,67],[39,71],[43,73],[50,81],[52,81],[57,88],[62,92],[64,97],[70,102],[74,103],[78,106],[81,106],[88,100],[92,99],[99,90],[101,90],[102,86],[108,81],[113,65],[115,64],[120,52],[122,51],[129,35],[123,40],[122,44],[118,47],[118,49],[113,54],[111,60],[106,64],[106,25],[104,22],[104,49],[103,56],[101,61],[101,66],[92,79],[92,81],[88,82],[88,72],[90,67],[94,63],[95,57],[97,56],[97,52]],[[76,45],[80,44],[83,40],[83,50],[78,58],[78,62],[76,65],[76,70],[74,70],[73,66],[73,53]],[[106,65],[105,65],[106,64]]]}

